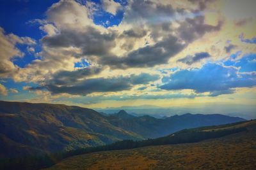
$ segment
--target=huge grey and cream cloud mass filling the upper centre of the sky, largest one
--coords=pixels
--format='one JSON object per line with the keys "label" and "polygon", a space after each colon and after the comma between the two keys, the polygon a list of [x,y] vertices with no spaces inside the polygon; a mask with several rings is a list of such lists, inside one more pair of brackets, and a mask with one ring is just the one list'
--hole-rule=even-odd
{"label": "huge grey and cream cloud mass filling the upper centre of the sky, largest one", "polygon": [[[124,7],[121,24],[106,29],[93,23],[94,8],[89,4],[92,3],[65,0],[52,4],[46,13],[47,20],[40,22],[40,29],[47,33],[41,39],[42,52],[38,53],[42,57],[20,69],[17,81],[49,80],[60,70],[72,71],[78,59],[111,69],[166,64],[191,43],[192,39],[188,41],[181,35],[199,28],[194,40],[221,26],[205,24],[204,17],[195,17],[193,10],[184,10],[184,20],[174,21],[180,8],[160,2],[132,1]],[[193,14],[189,20],[188,13]],[[173,22],[178,27],[173,27]],[[184,25],[190,29],[181,29]]]}

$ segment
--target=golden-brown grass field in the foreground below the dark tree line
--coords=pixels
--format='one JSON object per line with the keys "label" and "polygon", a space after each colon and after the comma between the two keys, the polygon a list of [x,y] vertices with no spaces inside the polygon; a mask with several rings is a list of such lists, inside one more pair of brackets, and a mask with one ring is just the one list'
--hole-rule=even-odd
{"label": "golden-brown grass field in the foreground below the dark tree line", "polygon": [[88,153],[49,169],[256,169],[256,124],[248,132],[199,143]]}

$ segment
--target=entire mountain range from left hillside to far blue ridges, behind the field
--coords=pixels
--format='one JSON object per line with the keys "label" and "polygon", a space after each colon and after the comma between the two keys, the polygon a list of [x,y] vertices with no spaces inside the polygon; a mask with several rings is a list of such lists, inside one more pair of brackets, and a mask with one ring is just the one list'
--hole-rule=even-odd
{"label": "entire mountain range from left hillside to far blue ridges, behind the field", "polygon": [[134,117],[112,115],[64,104],[0,101],[0,157],[40,155],[113,143],[122,139],[158,138],[181,129],[244,121],[225,115]]}

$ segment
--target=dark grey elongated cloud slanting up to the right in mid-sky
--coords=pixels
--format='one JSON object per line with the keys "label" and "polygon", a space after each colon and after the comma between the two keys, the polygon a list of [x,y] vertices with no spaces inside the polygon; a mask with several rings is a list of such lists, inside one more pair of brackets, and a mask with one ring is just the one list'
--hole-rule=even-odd
{"label": "dark grey elongated cloud slanting up to the right in mid-sky", "polygon": [[185,45],[174,36],[169,36],[155,45],[148,45],[128,53],[125,57],[104,57],[102,64],[112,67],[152,67],[157,64],[165,64],[170,57],[180,52]]}

